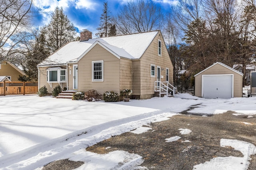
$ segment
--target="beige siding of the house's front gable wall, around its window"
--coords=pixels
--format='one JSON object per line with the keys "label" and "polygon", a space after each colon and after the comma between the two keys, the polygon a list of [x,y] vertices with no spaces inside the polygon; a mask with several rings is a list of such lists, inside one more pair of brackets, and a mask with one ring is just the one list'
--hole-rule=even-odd
{"label": "beige siding of the house's front gable wall, around its window", "polygon": [[[104,61],[104,81],[92,82],[92,61]],[[78,90],[97,90],[120,93],[120,59],[112,55],[100,45],[95,45],[80,61],[78,61]]]}

